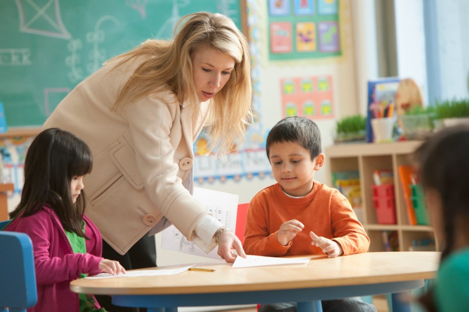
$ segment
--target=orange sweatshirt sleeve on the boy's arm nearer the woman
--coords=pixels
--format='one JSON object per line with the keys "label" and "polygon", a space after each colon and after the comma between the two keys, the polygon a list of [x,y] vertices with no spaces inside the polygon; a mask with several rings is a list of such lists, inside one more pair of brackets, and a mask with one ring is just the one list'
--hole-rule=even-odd
{"label": "orange sweatshirt sleeve on the boy's arm nearer the woman", "polygon": [[267,221],[267,201],[262,198],[262,195],[257,194],[249,203],[244,231],[244,251],[253,255],[282,256],[288,252],[292,242],[282,246],[277,240],[278,229],[271,233]]}

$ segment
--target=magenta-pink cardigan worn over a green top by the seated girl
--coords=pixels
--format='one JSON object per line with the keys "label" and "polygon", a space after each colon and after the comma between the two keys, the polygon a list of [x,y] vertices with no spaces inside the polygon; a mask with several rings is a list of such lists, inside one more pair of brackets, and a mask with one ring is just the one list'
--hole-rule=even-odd
{"label": "magenta-pink cardigan worn over a green top by the seated girl", "polygon": [[[22,232],[31,237],[34,251],[38,303],[28,312],[80,312],[78,293],[69,283],[81,273],[100,273],[102,238],[96,226],[85,216],[87,254],[73,254],[72,247],[55,212],[44,206],[27,217],[17,217],[5,231]],[[100,306],[96,302],[95,308]]]}

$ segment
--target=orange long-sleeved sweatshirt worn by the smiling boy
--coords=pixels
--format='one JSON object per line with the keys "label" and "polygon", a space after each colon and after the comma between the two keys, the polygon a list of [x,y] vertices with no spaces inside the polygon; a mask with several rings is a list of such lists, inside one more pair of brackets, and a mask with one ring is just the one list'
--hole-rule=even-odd
{"label": "orange long-sleeved sweatshirt worn by the smiling boy", "polygon": [[[292,219],[303,223],[304,229],[287,246],[282,246],[277,232]],[[370,245],[347,198],[338,190],[314,181],[311,192],[301,198],[285,195],[278,183],[257,193],[249,203],[244,251],[263,256],[324,254],[311,245],[310,231],[339,243],[344,255],[364,253]]]}

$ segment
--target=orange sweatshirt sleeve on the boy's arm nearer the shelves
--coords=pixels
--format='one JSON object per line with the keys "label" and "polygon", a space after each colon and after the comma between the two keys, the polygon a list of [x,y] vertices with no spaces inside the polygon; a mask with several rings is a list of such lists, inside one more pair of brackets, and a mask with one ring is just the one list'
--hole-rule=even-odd
{"label": "orange sweatshirt sleeve on the boy's arm nearer the shelves", "polygon": [[334,241],[341,245],[343,254],[364,253],[370,239],[355,215],[347,198],[335,191],[331,200],[331,221]]}

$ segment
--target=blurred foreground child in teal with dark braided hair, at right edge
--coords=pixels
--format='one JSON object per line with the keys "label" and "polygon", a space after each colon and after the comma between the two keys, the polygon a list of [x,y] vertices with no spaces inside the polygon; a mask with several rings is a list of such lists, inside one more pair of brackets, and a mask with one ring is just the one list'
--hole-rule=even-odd
{"label": "blurred foreground child in teal with dark braided hair, at right edge", "polygon": [[430,219],[443,242],[427,311],[469,308],[469,126],[445,128],[414,153]]}

